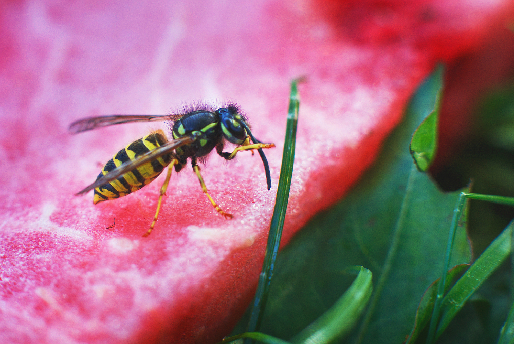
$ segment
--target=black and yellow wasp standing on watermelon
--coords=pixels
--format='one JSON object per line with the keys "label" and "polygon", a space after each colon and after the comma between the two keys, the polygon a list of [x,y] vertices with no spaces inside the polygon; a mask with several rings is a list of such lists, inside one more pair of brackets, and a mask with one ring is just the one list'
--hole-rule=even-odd
{"label": "black and yellow wasp standing on watermelon", "polygon": [[[173,139],[168,139],[162,130],[152,132],[120,150],[105,164],[95,183],[79,191],[82,195],[94,190],[93,203],[116,199],[128,195],[148,185],[168,167],[166,179],[160,189],[157,210],[150,228],[143,236],[152,232],[159,216],[162,197],[166,193],[172,167],[180,172],[191,160],[193,171],[200,182],[203,193],[216,211],[225,218],[233,215],[223,211],[207,192],[204,179],[200,174],[200,163],[205,163],[215,148],[219,156],[232,160],[237,152],[256,149],[261,156],[268,190],[271,188],[269,165],[263,148],[271,148],[272,143],[262,143],[256,139],[245,114],[240,107],[229,103],[215,109],[206,105],[193,105],[181,113],[172,115],[106,115],[77,120],[69,126],[72,134],[93,130],[115,124],[131,122],[168,121]],[[251,140],[251,142],[250,142]],[[237,147],[232,152],[224,152],[226,142]]]}

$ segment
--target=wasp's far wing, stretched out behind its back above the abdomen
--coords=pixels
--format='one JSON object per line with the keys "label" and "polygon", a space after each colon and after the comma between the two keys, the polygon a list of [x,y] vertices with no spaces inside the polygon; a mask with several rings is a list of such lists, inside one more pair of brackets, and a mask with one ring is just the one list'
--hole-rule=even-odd
{"label": "wasp's far wing, stretched out behind its back above the abdomen", "polygon": [[157,120],[176,120],[174,115],[108,115],[98,117],[88,117],[79,119],[69,125],[71,134],[81,133],[83,131],[93,130],[96,128],[112,126],[113,124],[122,124],[130,122],[155,122]]}

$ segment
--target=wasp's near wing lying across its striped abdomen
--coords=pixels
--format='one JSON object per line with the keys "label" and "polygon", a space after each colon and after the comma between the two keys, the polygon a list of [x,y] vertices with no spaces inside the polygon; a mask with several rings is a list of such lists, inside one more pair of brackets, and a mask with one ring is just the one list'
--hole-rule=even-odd
{"label": "wasp's near wing lying across its striped abdomen", "polygon": [[127,172],[130,172],[146,163],[149,163],[150,161],[153,161],[164,154],[170,153],[178,147],[193,143],[200,135],[201,134],[189,135],[173,141],[169,141],[166,144],[151,150],[150,152],[138,156],[134,160],[126,161],[126,163],[123,163],[114,170],[109,171],[109,173],[105,174],[100,179],[97,179],[95,183],[87,186],[83,190],[77,192],[75,195],[82,195],[90,190],[98,188],[99,186],[105,185]]}

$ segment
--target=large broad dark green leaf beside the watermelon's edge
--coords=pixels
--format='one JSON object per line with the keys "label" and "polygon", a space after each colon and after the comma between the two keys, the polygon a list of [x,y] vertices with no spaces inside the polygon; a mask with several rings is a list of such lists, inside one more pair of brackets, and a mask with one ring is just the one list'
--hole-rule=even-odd
{"label": "large broad dark green leaf beside the watermelon's edge", "polygon": [[[301,332],[351,285],[353,279],[341,271],[361,265],[378,278],[370,306],[349,336],[357,342],[405,340],[419,300],[442,270],[458,196],[440,192],[413,169],[408,149],[412,133],[432,112],[440,85],[438,73],[420,87],[376,165],[279,254],[262,332],[286,340]],[[469,260],[469,242],[460,227],[451,264]]]}

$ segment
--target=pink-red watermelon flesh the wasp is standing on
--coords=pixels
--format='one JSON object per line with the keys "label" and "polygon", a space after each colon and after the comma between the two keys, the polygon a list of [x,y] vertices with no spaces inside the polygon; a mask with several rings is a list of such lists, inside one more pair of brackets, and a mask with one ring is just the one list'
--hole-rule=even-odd
{"label": "pink-red watermelon flesh the wasp is standing on", "polygon": [[[305,76],[284,241],[339,199],[440,60],[479,49],[512,1],[5,2],[0,5],[0,341],[215,342],[261,269],[289,83]],[[74,193],[166,124],[70,135],[82,117],[236,101],[265,150],[188,166],[94,206]],[[226,148],[228,151],[229,148]],[[114,226],[113,226],[114,225]]]}

